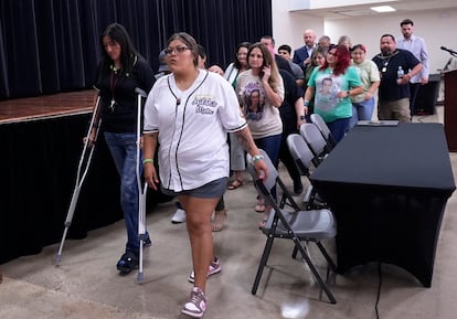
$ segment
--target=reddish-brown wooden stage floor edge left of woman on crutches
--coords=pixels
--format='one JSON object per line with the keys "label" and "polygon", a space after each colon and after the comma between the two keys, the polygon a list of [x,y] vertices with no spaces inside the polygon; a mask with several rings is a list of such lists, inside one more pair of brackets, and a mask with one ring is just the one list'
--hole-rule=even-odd
{"label": "reddish-brown wooden stage floor edge left of woman on crutches", "polygon": [[0,125],[92,113],[95,89],[0,102]]}

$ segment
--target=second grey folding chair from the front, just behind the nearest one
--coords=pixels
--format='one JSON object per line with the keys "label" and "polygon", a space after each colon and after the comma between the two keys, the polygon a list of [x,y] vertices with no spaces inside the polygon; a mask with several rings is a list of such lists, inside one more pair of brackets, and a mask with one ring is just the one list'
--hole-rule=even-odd
{"label": "second grey folding chair from the front, just behind the nearest one", "polygon": [[[315,168],[312,164],[315,156],[305,139],[298,134],[291,134],[287,137],[286,142],[298,171],[309,180],[311,170]],[[306,204],[307,210],[322,209],[327,206],[317,194],[312,184],[309,184],[305,191],[304,203]]]}

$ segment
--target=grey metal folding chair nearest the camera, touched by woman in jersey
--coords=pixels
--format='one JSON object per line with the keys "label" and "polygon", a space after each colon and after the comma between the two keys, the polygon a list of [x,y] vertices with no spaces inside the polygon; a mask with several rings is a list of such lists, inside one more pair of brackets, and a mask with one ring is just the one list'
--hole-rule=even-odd
{"label": "grey metal folding chair nearest the camera, touched by woman in jersey", "polygon": [[[268,178],[259,179],[255,171],[252,157],[247,155],[247,171],[251,173],[254,185],[257,191],[264,195],[265,200],[273,206],[272,212],[268,215],[268,221],[263,228],[263,233],[266,235],[265,248],[258,265],[257,275],[254,280],[252,294],[257,293],[258,284],[262,278],[264,268],[268,262],[269,253],[272,251],[273,242],[275,238],[287,238],[294,242],[294,254],[300,252],[304,260],[307,263],[312,275],[319,283],[321,289],[326,293],[331,304],[337,304],[337,299],[330,291],[326,281],[320,276],[315,264],[310,259],[307,248],[304,246],[305,242],[316,243],[319,251],[322,253],[327,260],[327,269],[330,267],[332,272],[337,269],[330,255],[321,244],[321,240],[333,238],[337,234],[333,215],[329,210],[309,210],[300,211],[297,203],[294,201],[291,194],[288,192],[284,182],[281,181],[278,171],[272,163],[270,159],[264,150],[259,150],[264,157],[265,162],[268,166]],[[278,203],[274,200],[270,193],[272,188],[276,185],[286,195],[288,204],[293,208],[291,211],[283,210]],[[295,255],[293,255],[295,257]],[[328,272],[327,272],[328,274]]]}

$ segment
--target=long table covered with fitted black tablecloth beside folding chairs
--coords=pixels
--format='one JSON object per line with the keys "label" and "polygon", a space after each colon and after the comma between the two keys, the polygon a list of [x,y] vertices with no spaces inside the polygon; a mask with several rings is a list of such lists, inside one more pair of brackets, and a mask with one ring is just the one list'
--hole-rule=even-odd
{"label": "long table covered with fitted black tablecloth beside folding chairs", "polygon": [[455,182],[440,124],[355,126],[311,182],[338,224],[338,270],[397,265],[431,287]]}

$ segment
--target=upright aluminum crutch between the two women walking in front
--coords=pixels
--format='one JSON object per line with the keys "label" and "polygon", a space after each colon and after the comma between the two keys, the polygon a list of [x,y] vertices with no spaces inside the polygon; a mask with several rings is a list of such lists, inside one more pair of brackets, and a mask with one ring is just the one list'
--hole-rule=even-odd
{"label": "upright aluminum crutch between the two women walking in front", "polygon": [[138,283],[144,283],[142,272],[142,245],[148,238],[146,233],[146,193],[148,191],[148,184],[145,182],[145,187],[141,187],[141,114],[142,114],[142,99],[147,97],[146,92],[141,88],[135,88],[135,93],[138,94],[138,109],[137,109],[137,184],[138,184],[138,238],[139,238],[139,265],[138,265]]}

